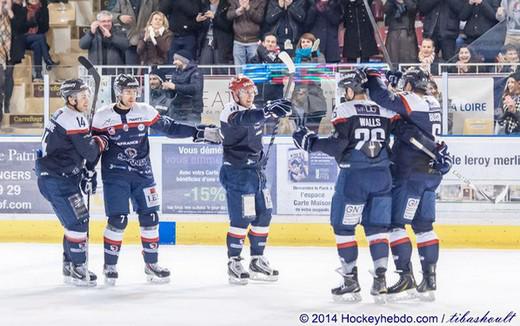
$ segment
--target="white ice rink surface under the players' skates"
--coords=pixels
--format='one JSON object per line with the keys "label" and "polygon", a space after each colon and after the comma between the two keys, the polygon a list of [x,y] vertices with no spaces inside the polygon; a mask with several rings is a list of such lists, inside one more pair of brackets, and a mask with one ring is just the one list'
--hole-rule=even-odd
{"label": "white ice rink surface under the players' skates", "polygon": [[[333,247],[270,247],[266,256],[280,270],[280,280],[247,286],[228,284],[224,246],[162,246],[160,262],[173,273],[165,285],[146,283],[140,251],[123,245],[118,284],[108,288],[101,277],[102,247],[92,245],[90,266],[100,280],[96,288],[85,289],[63,284],[61,246],[0,244],[0,325],[353,325],[339,318],[363,313],[438,316],[439,323],[427,324],[440,325],[442,318],[446,324],[466,311],[467,316],[520,315],[520,250],[442,250],[435,302],[386,305],[373,303],[369,295],[367,248],[359,252],[363,301],[357,304],[338,304],[330,296],[341,280],[334,272],[339,261]],[[413,259],[420,282],[418,257]],[[396,279],[387,274],[389,285]],[[338,319],[304,324],[299,321],[303,313]],[[520,317],[508,325],[520,325]]]}

